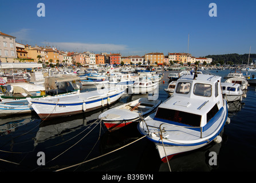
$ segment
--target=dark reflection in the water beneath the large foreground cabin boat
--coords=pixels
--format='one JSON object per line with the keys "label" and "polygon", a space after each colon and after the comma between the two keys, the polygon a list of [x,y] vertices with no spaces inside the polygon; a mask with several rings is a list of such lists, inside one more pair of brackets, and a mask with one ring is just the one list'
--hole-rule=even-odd
{"label": "dark reflection in the water beneath the large foreground cabin boat", "polygon": [[[223,135],[223,130],[220,133],[223,141],[225,141],[226,137]],[[216,157],[213,160],[213,156],[210,154],[216,153],[218,156],[220,152],[220,148],[222,146],[222,142],[219,144],[211,142],[207,146],[200,148],[198,150],[193,150],[191,152],[178,154],[174,158],[169,161],[170,168],[172,172],[211,172],[215,169],[218,169],[219,161]],[[168,168],[168,164],[162,163],[159,168],[159,172],[167,172],[170,171]]]}

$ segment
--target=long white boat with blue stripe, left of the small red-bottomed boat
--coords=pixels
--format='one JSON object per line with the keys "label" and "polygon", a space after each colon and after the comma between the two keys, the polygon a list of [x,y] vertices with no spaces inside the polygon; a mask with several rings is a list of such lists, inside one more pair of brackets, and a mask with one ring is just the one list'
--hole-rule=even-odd
{"label": "long white boat with blue stripe, left of the small red-bottomed boat", "polygon": [[42,120],[70,116],[102,108],[119,100],[124,89],[107,88],[50,98],[27,98]]}

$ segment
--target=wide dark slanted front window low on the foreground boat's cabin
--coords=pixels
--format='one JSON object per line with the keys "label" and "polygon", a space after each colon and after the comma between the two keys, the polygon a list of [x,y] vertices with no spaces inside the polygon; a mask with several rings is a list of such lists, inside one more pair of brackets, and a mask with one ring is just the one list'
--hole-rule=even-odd
{"label": "wide dark slanted front window low on the foreground boat's cabin", "polygon": [[195,127],[200,126],[201,123],[201,116],[198,114],[186,113],[179,110],[166,108],[158,108],[155,117]]}

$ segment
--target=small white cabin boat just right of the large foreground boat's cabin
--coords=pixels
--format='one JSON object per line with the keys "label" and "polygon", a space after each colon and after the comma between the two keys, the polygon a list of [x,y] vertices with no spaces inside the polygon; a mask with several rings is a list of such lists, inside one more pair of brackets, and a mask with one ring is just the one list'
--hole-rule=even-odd
{"label": "small white cabin boat just right of the large foreground boat's cabin", "polygon": [[237,83],[222,82],[222,96],[227,102],[242,101],[246,97]]}

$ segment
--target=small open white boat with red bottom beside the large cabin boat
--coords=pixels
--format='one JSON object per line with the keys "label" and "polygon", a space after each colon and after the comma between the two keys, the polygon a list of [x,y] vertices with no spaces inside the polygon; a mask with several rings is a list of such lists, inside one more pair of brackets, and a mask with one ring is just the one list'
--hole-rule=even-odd
{"label": "small open white boat with red bottom beside the large cabin boat", "polygon": [[126,104],[117,106],[107,110],[99,115],[107,129],[112,132],[123,126],[137,121],[140,115],[146,117],[152,113],[157,106],[161,104],[160,100],[148,100],[147,98],[139,98]]}

